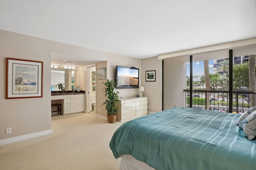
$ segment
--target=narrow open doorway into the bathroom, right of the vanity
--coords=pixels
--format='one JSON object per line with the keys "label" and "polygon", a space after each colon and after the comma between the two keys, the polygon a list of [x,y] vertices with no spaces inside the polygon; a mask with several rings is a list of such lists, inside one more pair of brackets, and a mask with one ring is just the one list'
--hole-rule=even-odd
{"label": "narrow open doorway into the bathroom, right of the vanity", "polygon": [[90,65],[88,70],[88,105],[89,112],[96,116],[96,64]]}

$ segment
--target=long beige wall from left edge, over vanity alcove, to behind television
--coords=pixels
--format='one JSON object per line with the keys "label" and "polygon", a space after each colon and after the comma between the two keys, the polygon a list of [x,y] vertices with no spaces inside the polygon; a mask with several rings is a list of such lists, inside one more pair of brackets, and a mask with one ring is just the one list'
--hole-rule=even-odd
{"label": "long beige wall from left edge, over vanity alcove, to behind television", "polygon": [[[30,37],[18,33],[0,30],[0,141],[20,135],[28,135],[41,131],[51,130],[51,53],[60,53],[84,58],[96,58],[102,63],[96,63],[97,68],[106,66],[106,75],[115,81],[116,65],[135,66],[141,70],[141,60],[122,55],[106,53],[84,47],[58,43],[46,39]],[[44,62],[43,67],[43,98],[6,99],[6,57]],[[105,62],[104,62],[105,61]],[[107,62],[106,62],[107,61]],[[77,74],[77,72],[79,74]],[[81,90],[86,90],[87,67],[76,70],[75,75],[80,78]],[[141,77],[141,72],[140,72]],[[96,103],[100,114],[106,117],[106,111],[101,106],[104,100],[102,84],[104,80],[96,82]],[[141,86],[141,80],[140,80]],[[138,89],[120,89],[122,98],[136,96]],[[12,133],[6,134],[6,128],[12,127]]]}

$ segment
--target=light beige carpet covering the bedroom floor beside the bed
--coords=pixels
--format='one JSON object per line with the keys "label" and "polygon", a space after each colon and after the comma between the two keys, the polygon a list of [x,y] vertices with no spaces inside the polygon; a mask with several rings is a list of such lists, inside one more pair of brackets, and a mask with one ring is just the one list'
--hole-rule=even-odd
{"label": "light beige carpet covering the bedroom floor beside the bed", "polygon": [[120,170],[109,142],[122,123],[86,113],[53,115],[52,135],[0,147],[0,170]]}

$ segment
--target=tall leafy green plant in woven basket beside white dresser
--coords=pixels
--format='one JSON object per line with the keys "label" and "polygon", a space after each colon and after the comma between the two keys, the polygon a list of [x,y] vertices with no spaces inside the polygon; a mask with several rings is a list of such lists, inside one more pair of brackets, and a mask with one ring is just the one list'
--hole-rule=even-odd
{"label": "tall leafy green plant in woven basket beside white dresser", "polygon": [[[105,93],[105,97],[107,97],[106,101],[104,103],[102,103],[103,105],[105,105],[106,110],[108,112],[108,123],[115,123],[116,122],[116,116],[118,113],[118,105],[116,104],[116,102],[118,102],[118,94],[119,92],[114,91],[116,90],[116,85],[117,83],[113,82],[112,80],[108,80],[107,82],[102,82],[105,87],[102,89],[102,92]],[[120,97],[121,98],[121,97]]]}

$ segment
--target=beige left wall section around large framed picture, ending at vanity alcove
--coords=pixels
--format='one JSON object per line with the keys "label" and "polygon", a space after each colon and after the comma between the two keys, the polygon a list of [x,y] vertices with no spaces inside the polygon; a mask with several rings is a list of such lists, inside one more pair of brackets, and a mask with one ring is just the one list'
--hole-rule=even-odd
{"label": "beige left wall section around large framed picture, ending at vanity alcove", "polygon": [[[42,61],[43,98],[6,99],[6,57]],[[51,129],[51,53],[48,41],[0,30],[0,139]],[[6,134],[6,128],[12,133]]]}

